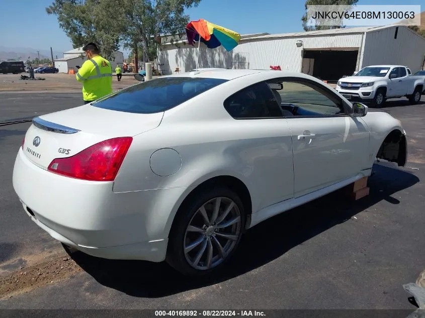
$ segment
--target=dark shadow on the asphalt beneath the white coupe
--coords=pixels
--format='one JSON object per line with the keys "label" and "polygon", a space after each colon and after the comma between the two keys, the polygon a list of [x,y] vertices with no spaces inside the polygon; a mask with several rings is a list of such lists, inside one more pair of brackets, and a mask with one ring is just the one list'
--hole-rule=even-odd
{"label": "dark shadow on the asphalt beneath the white coupe", "polygon": [[392,195],[419,181],[409,172],[381,164],[375,165],[374,171],[375,174],[368,181],[370,194],[367,197],[351,201],[336,191],[248,230],[232,261],[214,278],[190,279],[180,275],[165,262],[106,260],[81,252],[72,253],[71,257],[102,285],[135,297],[163,297],[216,284],[279,258],[295,246],[350,220],[381,200],[400,203]]}

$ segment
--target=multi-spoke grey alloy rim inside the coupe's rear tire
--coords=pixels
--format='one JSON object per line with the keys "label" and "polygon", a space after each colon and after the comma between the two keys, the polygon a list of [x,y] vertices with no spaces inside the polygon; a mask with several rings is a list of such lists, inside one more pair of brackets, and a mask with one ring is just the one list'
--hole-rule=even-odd
{"label": "multi-spoke grey alloy rim inside the coupe's rear tire", "polygon": [[186,228],[186,261],[198,270],[216,267],[236,246],[241,228],[240,210],[233,200],[216,197],[205,202]]}

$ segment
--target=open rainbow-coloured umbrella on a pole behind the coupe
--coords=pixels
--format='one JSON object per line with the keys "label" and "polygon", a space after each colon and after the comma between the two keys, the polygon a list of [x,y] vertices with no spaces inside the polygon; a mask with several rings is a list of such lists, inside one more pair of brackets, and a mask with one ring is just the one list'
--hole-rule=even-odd
{"label": "open rainbow-coloured umbrella on a pole behind the coupe", "polygon": [[191,21],[186,26],[186,35],[189,45],[198,42],[198,59],[196,69],[198,69],[199,45],[205,43],[210,49],[215,49],[222,45],[227,52],[233,50],[240,40],[240,34],[232,30],[223,28],[204,19]]}

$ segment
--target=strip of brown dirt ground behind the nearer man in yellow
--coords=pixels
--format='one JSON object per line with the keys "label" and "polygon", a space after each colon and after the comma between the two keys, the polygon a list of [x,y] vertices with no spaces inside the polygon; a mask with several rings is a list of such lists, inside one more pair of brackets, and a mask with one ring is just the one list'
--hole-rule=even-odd
{"label": "strip of brown dirt ground behind the nearer man in yellow", "polygon": [[[75,78],[75,74],[34,74],[35,78],[41,77],[44,80],[21,80],[22,74],[0,74],[0,92],[80,92],[81,83]],[[133,76],[123,76],[118,82],[117,77],[113,77],[112,88],[119,90],[127,86],[139,83]]]}

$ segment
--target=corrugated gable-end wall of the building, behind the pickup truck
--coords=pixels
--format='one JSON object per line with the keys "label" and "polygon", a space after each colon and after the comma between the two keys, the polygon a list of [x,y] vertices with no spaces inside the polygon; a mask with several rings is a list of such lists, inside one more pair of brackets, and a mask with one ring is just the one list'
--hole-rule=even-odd
{"label": "corrugated gable-end wall of the building, behind the pickup truck", "polygon": [[425,39],[406,27],[388,28],[366,34],[361,67],[379,64],[399,64],[414,73],[420,70],[425,55]]}

